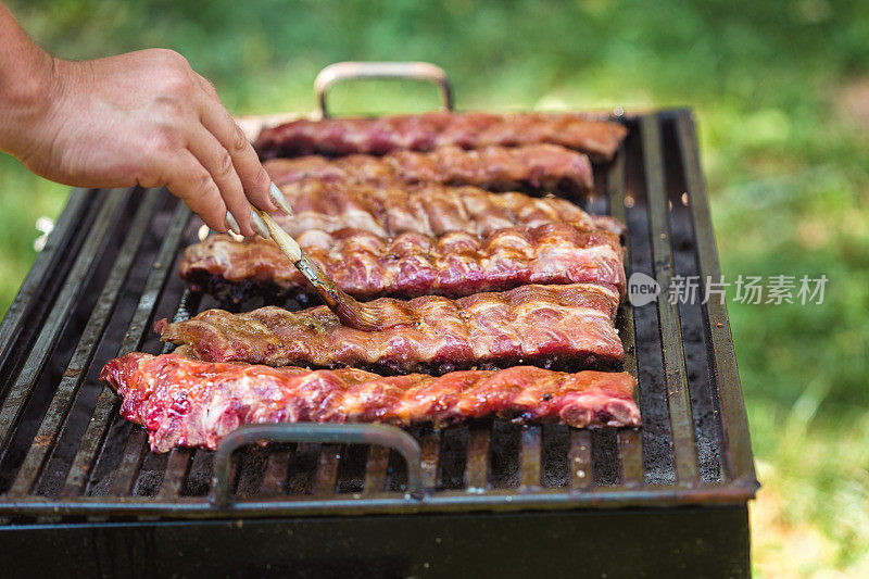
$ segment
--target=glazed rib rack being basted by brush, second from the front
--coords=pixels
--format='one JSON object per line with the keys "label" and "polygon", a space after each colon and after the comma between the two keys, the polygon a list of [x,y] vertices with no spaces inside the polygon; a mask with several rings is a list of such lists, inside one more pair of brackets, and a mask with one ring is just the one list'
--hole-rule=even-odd
{"label": "glazed rib rack being basted by brush, second from the front", "polygon": [[458,300],[375,300],[368,306],[379,311],[385,329],[370,332],[342,326],[326,306],[209,310],[175,324],[163,319],[155,329],[163,341],[207,362],[437,374],[521,362],[596,368],[624,358],[614,327],[618,303],[610,286],[522,286]]}

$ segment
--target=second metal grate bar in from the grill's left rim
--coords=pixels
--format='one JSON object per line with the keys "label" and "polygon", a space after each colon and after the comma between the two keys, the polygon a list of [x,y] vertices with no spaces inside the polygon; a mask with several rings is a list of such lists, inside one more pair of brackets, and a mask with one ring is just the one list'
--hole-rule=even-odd
{"label": "second metal grate bar in from the grill's left rim", "polygon": [[148,229],[148,223],[153,216],[160,200],[160,196],[155,192],[143,193],[143,198],[137,211],[136,218],[124,239],[121,252],[115,260],[112,273],[105,281],[100,297],[97,299],[97,304],[81,333],[75,353],[70,361],[66,372],[63,374],[63,378],[46,412],[39,431],[34,438],[35,443],[27,452],[24,463],[18,470],[18,475],[10,490],[10,494],[12,495],[28,494],[32,491],[37,483],[37,479],[46,461],[53,451],[59,430],[66,419],[73,399],[78,392],[78,388],[81,386],[81,381],[87,374],[87,366],[93,357],[99,338],[105,329],[109,317],[112,315],[115,304],[117,303],[121,287],[129,273],[130,265],[136,255],[136,248],[141,242]]}

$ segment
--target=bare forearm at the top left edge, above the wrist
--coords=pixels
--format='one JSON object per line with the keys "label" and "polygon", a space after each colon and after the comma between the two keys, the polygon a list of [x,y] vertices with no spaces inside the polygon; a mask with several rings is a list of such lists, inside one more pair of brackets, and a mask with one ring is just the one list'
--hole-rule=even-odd
{"label": "bare forearm at the top left edge, above the wrist", "polygon": [[29,129],[51,106],[54,61],[1,2],[0,38],[0,150],[23,159],[34,147]]}

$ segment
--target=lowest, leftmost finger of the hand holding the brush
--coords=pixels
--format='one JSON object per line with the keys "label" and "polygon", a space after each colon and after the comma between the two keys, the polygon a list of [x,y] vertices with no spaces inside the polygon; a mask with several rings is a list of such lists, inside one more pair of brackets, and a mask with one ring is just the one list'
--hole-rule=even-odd
{"label": "lowest, leftmost finger of the hand holding the brush", "polygon": [[226,204],[212,174],[188,150],[167,161],[166,187],[215,231],[226,231]]}

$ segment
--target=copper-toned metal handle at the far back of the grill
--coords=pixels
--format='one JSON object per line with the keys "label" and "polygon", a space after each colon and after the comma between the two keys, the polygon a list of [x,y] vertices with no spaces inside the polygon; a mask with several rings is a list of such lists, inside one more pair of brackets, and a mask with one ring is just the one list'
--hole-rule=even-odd
{"label": "copper-toned metal handle at the far back of the grill", "polygon": [[441,91],[441,110],[453,110],[453,89],[450,78],[440,66],[429,62],[336,62],[326,66],[314,79],[314,92],[319,105],[319,117],[329,118],[326,109],[326,92],[341,80],[358,78],[398,78],[427,80],[438,85]]}

